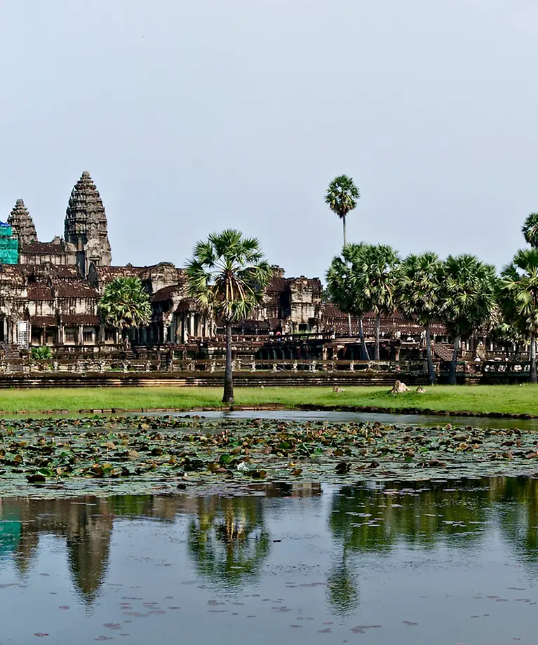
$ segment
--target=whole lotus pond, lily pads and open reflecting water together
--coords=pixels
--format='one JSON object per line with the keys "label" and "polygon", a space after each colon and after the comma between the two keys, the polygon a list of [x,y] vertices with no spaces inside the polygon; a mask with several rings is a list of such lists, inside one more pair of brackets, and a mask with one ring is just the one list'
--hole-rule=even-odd
{"label": "whole lotus pond, lily pads and open reflecting water together", "polygon": [[0,644],[538,643],[532,428],[262,416],[1,420]]}

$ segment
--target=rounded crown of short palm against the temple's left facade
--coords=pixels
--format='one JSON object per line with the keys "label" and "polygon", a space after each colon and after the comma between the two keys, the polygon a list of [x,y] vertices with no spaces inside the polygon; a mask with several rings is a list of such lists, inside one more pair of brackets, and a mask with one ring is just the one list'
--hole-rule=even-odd
{"label": "rounded crown of short palm against the temple's left facade", "polygon": [[116,278],[105,287],[99,303],[101,318],[120,331],[149,325],[152,305],[140,278]]}

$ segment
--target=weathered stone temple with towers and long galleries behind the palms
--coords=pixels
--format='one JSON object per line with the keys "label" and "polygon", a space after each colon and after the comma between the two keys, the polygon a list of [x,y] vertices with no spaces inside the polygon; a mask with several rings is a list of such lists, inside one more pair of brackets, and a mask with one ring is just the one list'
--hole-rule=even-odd
{"label": "weathered stone temple with towers and long galleries behind the palms", "polygon": [[[83,172],[67,199],[64,234],[39,241],[22,199],[0,226],[0,344],[15,349],[51,346],[55,355],[107,353],[124,347],[118,330],[102,324],[97,305],[108,283],[136,276],[152,299],[148,327],[129,332],[130,345],[166,346],[189,355],[211,355],[222,348],[219,321],[208,319],[187,292],[184,269],[169,262],[154,266],[114,266],[107,215],[93,179]],[[374,335],[366,315],[365,331]],[[439,351],[445,331],[433,330]],[[273,267],[262,304],[250,320],[234,328],[246,355],[268,359],[341,358],[360,355],[358,321],[323,301],[319,278],[285,277]],[[401,348],[419,348],[422,330],[397,313],[382,319],[382,358],[398,360]],[[346,338],[347,337],[347,338]],[[278,345],[276,341],[278,340]],[[241,351],[238,349],[238,355]],[[185,355],[185,354],[184,354]]]}

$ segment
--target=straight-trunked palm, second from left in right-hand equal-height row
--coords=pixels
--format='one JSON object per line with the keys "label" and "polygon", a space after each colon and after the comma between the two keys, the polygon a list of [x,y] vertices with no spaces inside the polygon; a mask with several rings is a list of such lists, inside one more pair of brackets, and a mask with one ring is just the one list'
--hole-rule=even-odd
{"label": "straight-trunked palm, second from left in right-hand equal-height row", "polygon": [[359,299],[364,311],[375,312],[375,353],[379,360],[379,331],[382,314],[394,311],[396,268],[400,262],[398,252],[386,244],[365,244],[359,254]]}

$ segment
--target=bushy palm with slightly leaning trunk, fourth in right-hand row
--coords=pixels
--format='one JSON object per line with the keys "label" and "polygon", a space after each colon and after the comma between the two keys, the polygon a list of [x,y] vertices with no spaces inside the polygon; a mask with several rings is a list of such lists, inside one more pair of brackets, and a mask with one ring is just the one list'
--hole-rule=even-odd
{"label": "bushy palm with slightly leaning trunk, fourth in right-hand row", "polygon": [[495,268],[470,254],[449,255],[441,269],[441,320],[454,339],[448,382],[456,383],[459,342],[489,318],[495,304]]}

